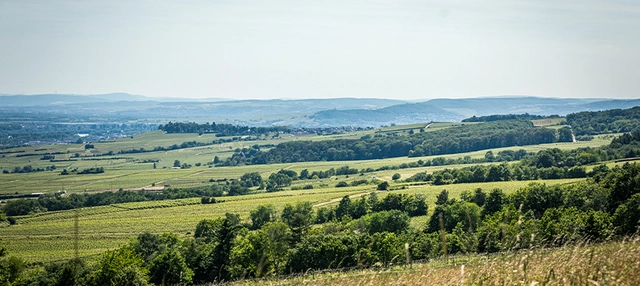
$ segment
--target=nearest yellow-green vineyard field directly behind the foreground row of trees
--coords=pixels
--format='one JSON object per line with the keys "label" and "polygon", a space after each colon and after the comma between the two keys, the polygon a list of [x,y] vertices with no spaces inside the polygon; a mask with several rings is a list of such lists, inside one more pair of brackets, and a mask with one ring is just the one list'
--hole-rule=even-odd
{"label": "nearest yellow-green vineyard field directly behind the foreground row of trees", "polygon": [[[536,181],[548,185],[570,184],[578,179]],[[463,191],[482,188],[489,191],[500,188],[505,193],[513,192],[531,181],[510,181],[448,186],[409,186],[391,192],[379,192],[380,198],[388,193],[424,194],[432,211],[436,195],[443,189],[452,197]],[[171,201],[151,201],[115,204],[110,206],[83,208],[79,210],[46,212],[32,216],[17,217],[17,225],[0,229],[0,242],[12,254],[30,262],[62,261],[74,255],[74,222],[78,216],[80,256],[91,257],[127,243],[138,234],[174,233],[192,235],[196,224],[205,218],[221,217],[225,213],[237,213],[249,222],[249,212],[258,205],[271,204],[281,210],[287,203],[309,201],[316,206],[337,204],[343,196],[354,196],[375,192],[375,185],[358,187],[282,191],[236,197],[219,198],[223,202],[201,204],[199,198]],[[426,216],[415,217],[412,225],[424,228]]]}

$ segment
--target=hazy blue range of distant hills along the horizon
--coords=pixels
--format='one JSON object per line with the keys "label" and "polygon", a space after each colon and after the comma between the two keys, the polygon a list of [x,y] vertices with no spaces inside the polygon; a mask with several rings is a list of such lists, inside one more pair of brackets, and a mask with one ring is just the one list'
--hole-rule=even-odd
{"label": "hazy blue range of distant hills along the horizon", "polygon": [[[581,111],[625,109],[640,99],[565,99],[485,97],[432,99],[418,103],[378,98],[226,100],[221,98],[154,98],[127,93],[96,95],[0,95],[0,112],[12,118],[24,114],[65,114],[73,118],[108,118],[219,122],[248,126],[381,126],[430,121],[461,121],[495,114],[560,115]],[[42,108],[42,107],[46,108]],[[25,119],[26,120],[26,119]],[[86,119],[85,119],[86,120]]]}

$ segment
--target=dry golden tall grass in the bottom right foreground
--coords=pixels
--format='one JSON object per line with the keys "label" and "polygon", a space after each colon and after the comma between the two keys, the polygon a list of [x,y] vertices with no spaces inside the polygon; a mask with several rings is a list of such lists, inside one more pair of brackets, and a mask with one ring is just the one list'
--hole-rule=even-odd
{"label": "dry golden tall grass in the bottom right foreground", "polygon": [[[454,261],[458,261],[457,263]],[[465,261],[460,263],[460,261]],[[640,238],[470,256],[384,270],[306,274],[248,285],[640,285]]]}

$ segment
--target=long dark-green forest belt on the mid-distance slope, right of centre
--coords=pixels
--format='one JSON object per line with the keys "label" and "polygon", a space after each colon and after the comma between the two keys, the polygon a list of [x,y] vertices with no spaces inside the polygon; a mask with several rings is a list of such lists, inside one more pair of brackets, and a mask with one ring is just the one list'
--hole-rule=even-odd
{"label": "long dark-green forest belt on the mid-distance slope, right of centre", "polygon": [[431,156],[482,149],[570,142],[571,130],[533,127],[530,121],[496,121],[407,135],[365,135],[360,139],[292,141],[268,151],[238,150],[221,165],[368,160]]}

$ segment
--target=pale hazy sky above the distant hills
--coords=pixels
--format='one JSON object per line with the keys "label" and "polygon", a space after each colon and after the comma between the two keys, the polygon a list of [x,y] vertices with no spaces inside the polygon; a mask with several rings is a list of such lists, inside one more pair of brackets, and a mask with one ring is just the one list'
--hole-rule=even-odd
{"label": "pale hazy sky above the distant hills", "polygon": [[640,1],[0,0],[0,93],[640,98]]}

